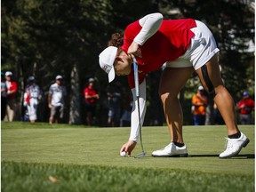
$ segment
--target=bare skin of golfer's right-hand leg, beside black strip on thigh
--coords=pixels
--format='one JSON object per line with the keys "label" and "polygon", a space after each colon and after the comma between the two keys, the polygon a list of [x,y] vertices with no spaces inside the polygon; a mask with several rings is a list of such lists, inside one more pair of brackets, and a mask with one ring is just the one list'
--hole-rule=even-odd
{"label": "bare skin of golfer's right-hand leg, beside black strip on thigh", "polygon": [[[206,63],[206,68],[208,70],[208,75],[216,92],[216,96],[213,100],[219,108],[220,114],[225,121],[225,124],[228,128],[228,135],[235,134],[236,132],[238,132],[238,127],[236,124],[235,105],[231,95],[224,87],[221,80],[217,54],[214,55],[212,59]],[[204,89],[209,92],[209,89],[205,84],[201,68],[197,69],[196,73],[200,77],[200,80],[204,85]]]}

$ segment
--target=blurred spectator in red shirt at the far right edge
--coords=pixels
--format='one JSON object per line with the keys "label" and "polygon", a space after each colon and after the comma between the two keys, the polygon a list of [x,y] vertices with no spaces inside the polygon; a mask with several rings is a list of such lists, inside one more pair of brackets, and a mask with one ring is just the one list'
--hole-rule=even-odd
{"label": "blurred spectator in red shirt at the far right edge", "polygon": [[249,92],[243,93],[243,99],[236,104],[241,124],[252,124],[252,110],[255,109],[254,100],[250,99]]}

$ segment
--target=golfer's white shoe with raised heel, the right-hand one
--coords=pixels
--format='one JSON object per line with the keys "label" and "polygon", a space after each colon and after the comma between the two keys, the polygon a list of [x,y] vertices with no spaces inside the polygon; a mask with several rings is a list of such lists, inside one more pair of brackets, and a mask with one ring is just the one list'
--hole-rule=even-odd
{"label": "golfer's white shoe with raised heel, the right-hand one", "polygon": [[247,146],[250,140],[241,132],[241,137],[238,139],[227,139],[226,150],[220,154],[220,158],[228,158],[237,156],[240,150]]}

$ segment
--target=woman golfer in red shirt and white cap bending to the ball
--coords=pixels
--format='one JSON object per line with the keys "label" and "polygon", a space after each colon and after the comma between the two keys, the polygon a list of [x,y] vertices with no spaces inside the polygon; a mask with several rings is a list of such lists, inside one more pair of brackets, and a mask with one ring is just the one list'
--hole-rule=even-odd
{"label": "woman golfer in red shirt and white cap bending to the ball", "polygon": [[108,81],[115,76],[128,76],[133,94],[132,125],[129,140],[120,152],[131,156],[140,136],[138,106],[135,105],[132,61],[138,64],[140,83],[140,117],[146,113],[145,76],[163,66],[159,95],[164,116],[171,134],[171,143],[156,150],[152,156],[188,156],[182,136],[183,115],[178,93],[191,74],[196,71],[206,92],[220,110],[228,130],[228,143],[220,158],[236,156],[249,139],[236,124],[234,101],[220,77],[218,52],[211,31],[198,20],[163,20],[160,13],[148,14],[128,25],[123,36],[115,34],[108,48],[100,53],[100,68],[108,73]]}

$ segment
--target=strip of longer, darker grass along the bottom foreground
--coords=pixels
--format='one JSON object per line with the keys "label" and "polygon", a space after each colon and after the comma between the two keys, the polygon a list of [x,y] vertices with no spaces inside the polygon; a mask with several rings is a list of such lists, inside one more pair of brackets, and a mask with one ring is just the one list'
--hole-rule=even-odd
{"label": "strip of longer, darker grass along the bottom foreground", "polygon": [[[8,172],[8,173],[7,173]],[[49,177],[56,179],[51,181]],[[100,165],[2,163],[2,191],[252,191],[242,175]]]}

